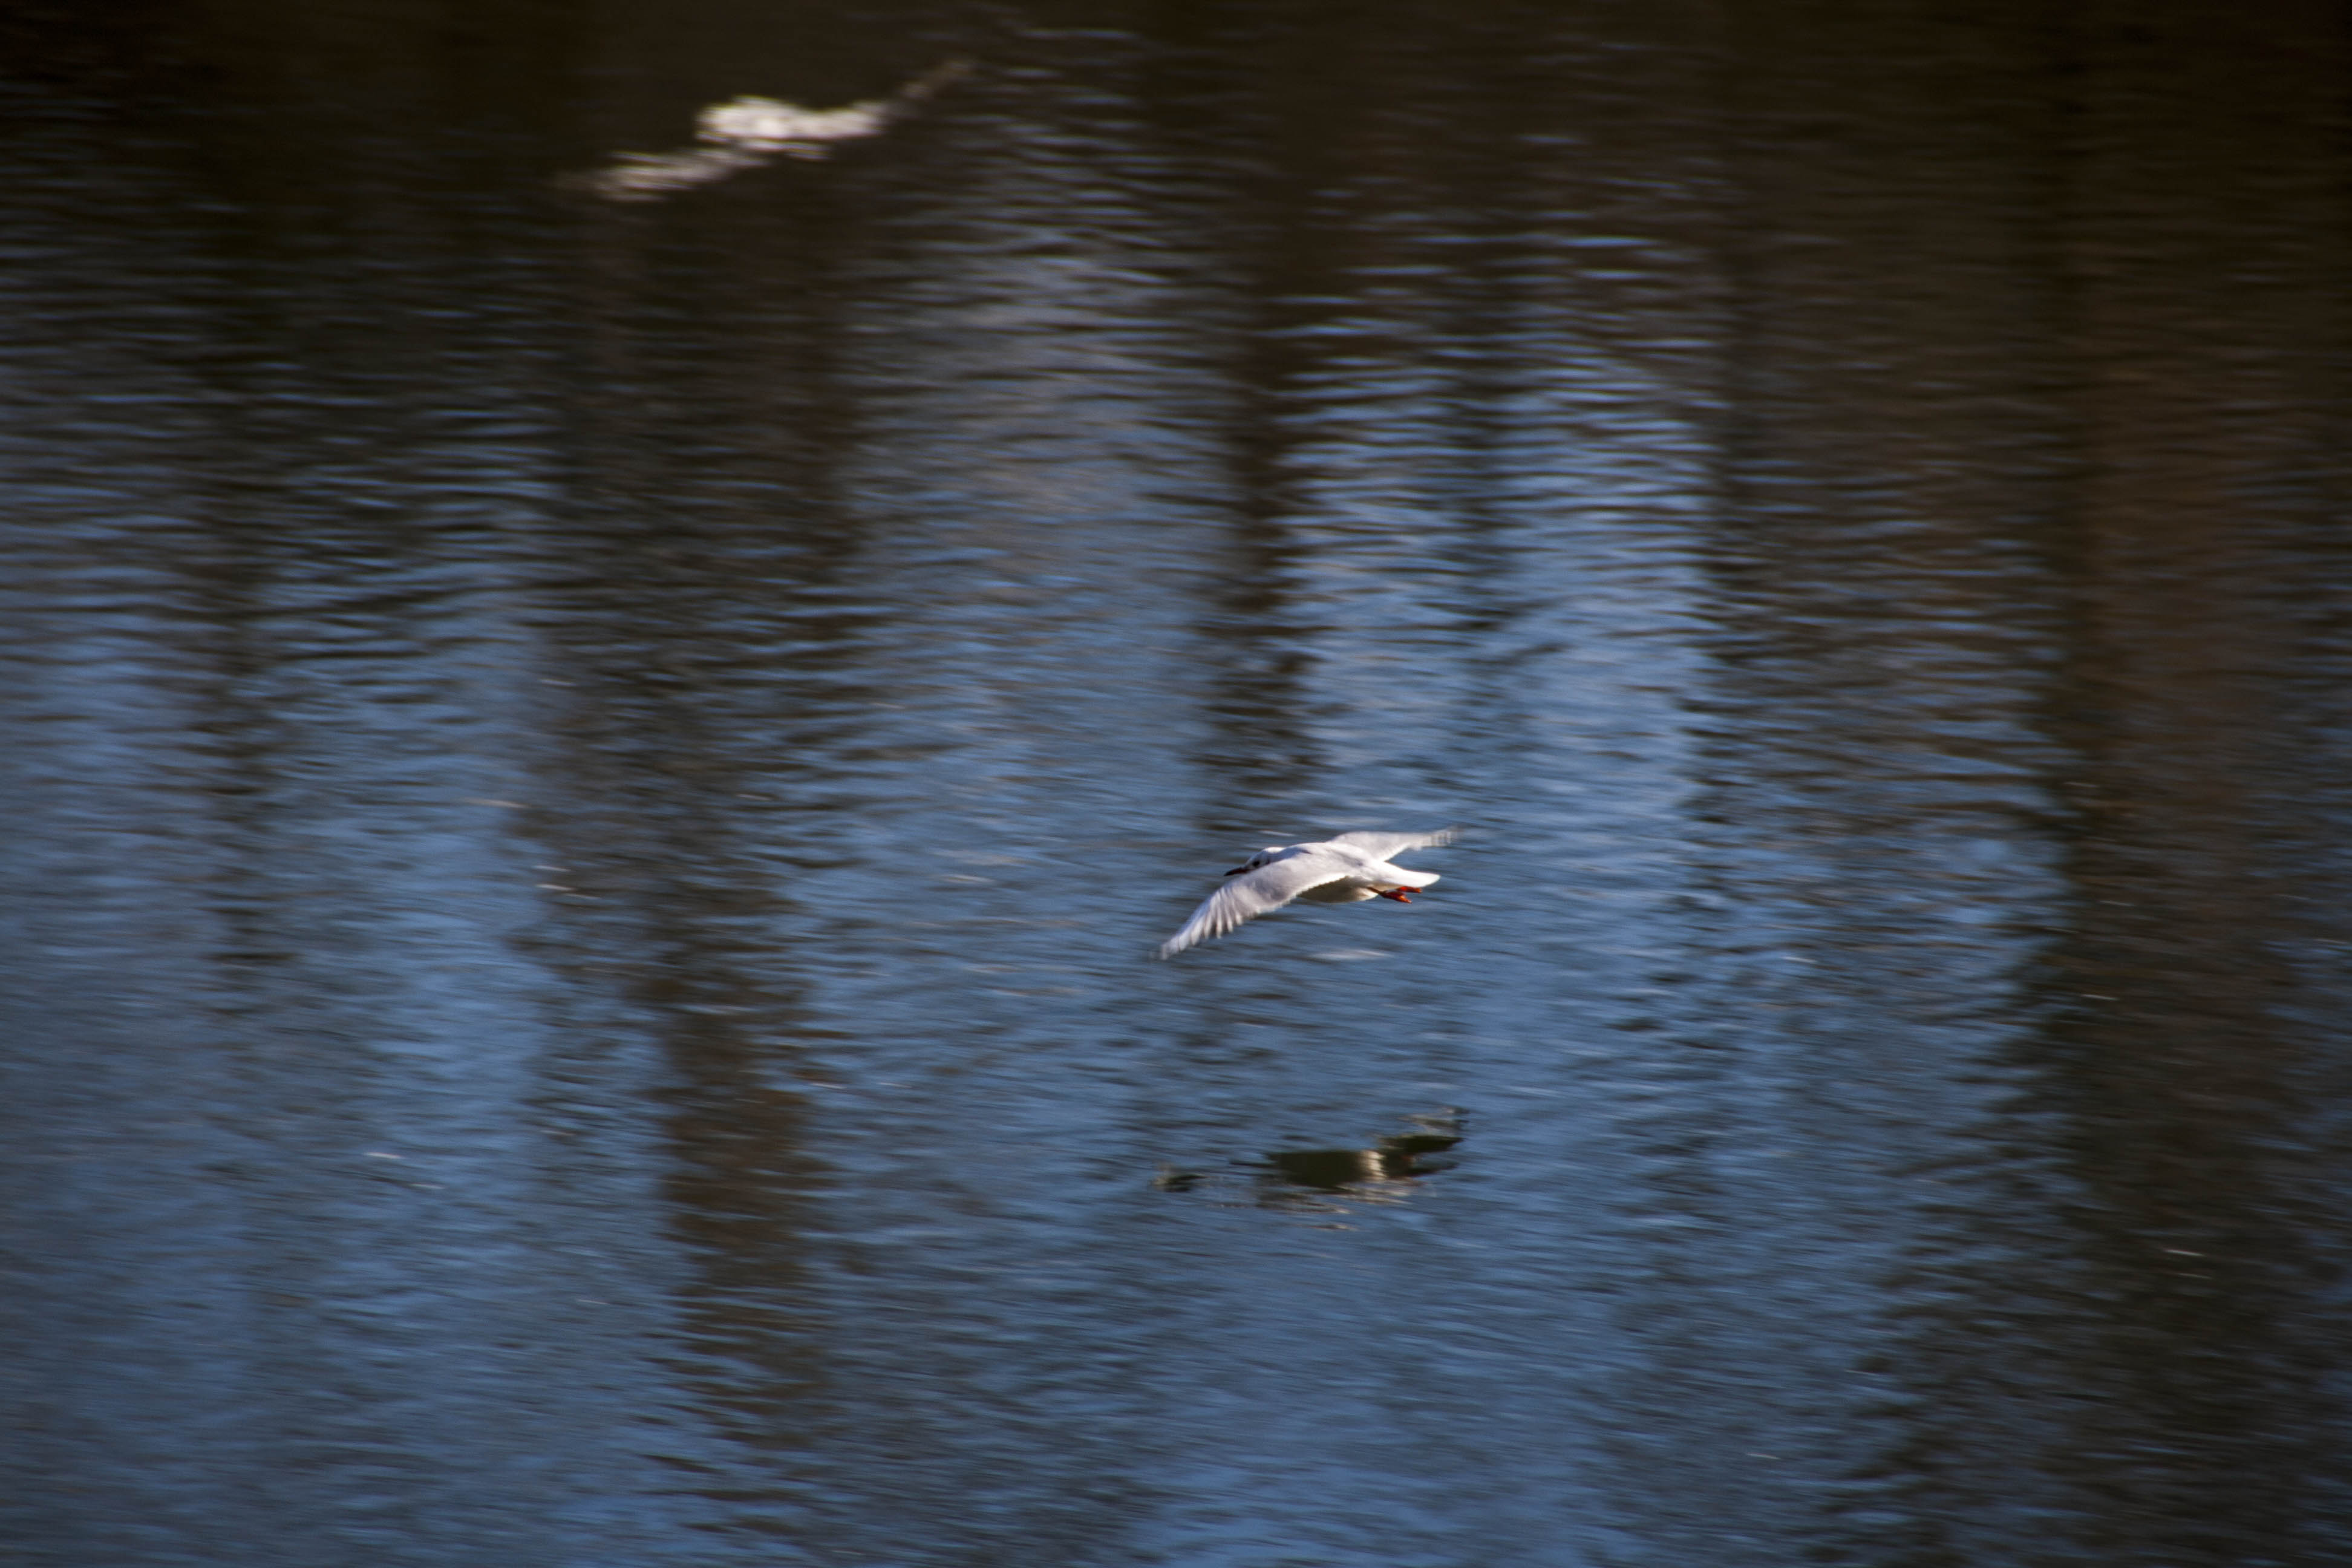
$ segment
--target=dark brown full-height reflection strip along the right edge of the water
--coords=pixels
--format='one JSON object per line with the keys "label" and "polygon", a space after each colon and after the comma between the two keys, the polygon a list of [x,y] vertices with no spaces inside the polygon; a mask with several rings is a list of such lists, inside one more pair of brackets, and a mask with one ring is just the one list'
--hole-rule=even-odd
{"label": "dark brown full-height reflection strip along the right edge of the water", "polygon": [[2314,129],[2347,129],[2352,31],[2091,7],[2058,66],[2072,898],[2034,1053],[2096,1302],[2063,1469],[2091,1561],[2343,1561],[2345,1168],[2307,1140],[2340,1032],[2298,969],[2345,893],[2352,386],[2293,346],[2345,341]]}

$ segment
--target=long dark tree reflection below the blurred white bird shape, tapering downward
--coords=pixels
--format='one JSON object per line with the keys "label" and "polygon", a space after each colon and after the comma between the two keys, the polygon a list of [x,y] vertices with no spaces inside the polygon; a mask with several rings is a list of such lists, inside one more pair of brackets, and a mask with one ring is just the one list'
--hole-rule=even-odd
{"label": "long dark tree reflection below the blurred white bird shape, tapering downward", "polygon": [[564,719],[539,832],[574,891],[541,950],[659,1020],[684,1387],[762,1460],[680,1458],[680,1486],[755,1540],[809,1526],[795,1455],[830,1396],[800,1234],[807,1020],[774,926],[797,872],[842,856],[826,759],[858,743],[858,642],[882,630],[849,602],[861,524],[828,454],[856,397],[818,308],[858,228],[826,186],[793,195],[670,228],[583,216],[602,334],[569,404],[574,515],[543,541],[550,576],[581,585],[543,623]]}

